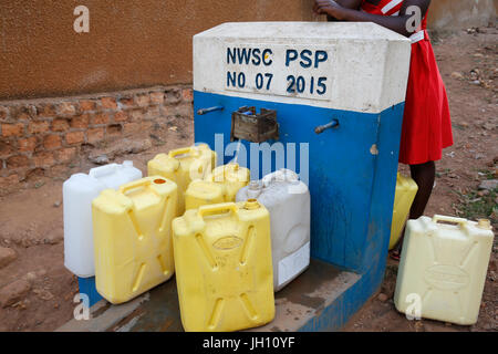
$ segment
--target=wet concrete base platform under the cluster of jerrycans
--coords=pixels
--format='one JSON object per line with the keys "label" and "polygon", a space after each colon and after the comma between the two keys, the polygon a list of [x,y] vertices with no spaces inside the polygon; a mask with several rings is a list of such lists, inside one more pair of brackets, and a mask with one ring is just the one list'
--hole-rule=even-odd
{"label": "wet concrete base platform under the cluster of jerrycans", "polygon": [[[312,260],[298,279],[276,294],[274,320],[251,331],[340,330],[349,319],[344,294],[357,287],[361,278]],[[357,310],[353,303],[347,306],[353,313]],[[183,331],[175,279],[125,304],[111,305],[105,300],[100,301],[91,308],[91,320],[72,320],[58,331]]]}

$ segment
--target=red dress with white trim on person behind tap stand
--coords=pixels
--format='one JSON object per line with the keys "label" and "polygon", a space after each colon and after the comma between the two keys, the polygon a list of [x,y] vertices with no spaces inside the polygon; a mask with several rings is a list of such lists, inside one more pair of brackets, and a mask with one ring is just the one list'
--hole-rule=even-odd
{"label": "red dress with white trim on person behind tap stand", "polygon": [[[381,0],[376,6],[363,0],[361,10],[397,15],[402,4],[403,0]],[[400,163],[407,165],[438,160],[443,148],[453,145],[448,98],[426,25],[427,14],[418,31],[422,33],[411,38],[412,58],[400,146]]]}

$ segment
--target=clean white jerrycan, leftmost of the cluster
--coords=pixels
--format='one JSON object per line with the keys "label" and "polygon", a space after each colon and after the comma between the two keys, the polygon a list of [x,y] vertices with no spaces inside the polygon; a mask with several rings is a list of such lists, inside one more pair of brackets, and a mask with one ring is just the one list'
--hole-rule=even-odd
{"label": "clean white jerrycan, leftmost of the cluster", "polygon": [[62,186],[64,212],[64,266],[80,278],[95,275],[93,251],[92,200],[104,189],[142,178],[133,162],[92,168],[72,175]]}

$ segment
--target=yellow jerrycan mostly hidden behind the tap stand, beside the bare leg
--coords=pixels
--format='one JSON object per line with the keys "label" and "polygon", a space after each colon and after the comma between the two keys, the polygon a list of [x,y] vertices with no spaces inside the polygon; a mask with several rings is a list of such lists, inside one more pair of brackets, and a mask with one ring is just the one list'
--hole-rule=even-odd
{"label": "yellow jerrycan mostly hidden behind the tap stand, beside the bare leg", "polygon": [[415,199],[417,190],[418,186],[415,180],[397,173],[396,192],[394,195],[393,221],[391,223],[390,250],[392,250],[394,246],[396,246],[397,240],[403,232],[403,228],[409,215],[409,208],[412,208],[412,204]]}

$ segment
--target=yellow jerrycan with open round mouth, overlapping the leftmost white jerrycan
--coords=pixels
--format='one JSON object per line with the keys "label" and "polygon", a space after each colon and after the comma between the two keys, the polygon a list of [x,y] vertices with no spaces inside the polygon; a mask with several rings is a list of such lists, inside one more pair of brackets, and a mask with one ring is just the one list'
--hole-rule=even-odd
{"label": "yellow jerrycan with open round mouth, overlapping the leftmost white jerrycan", "polygon": [[176,184],[160,176],[105,189],[93,200],[95,284],[107,301],[126,302],[173,275],[176,202]]}

